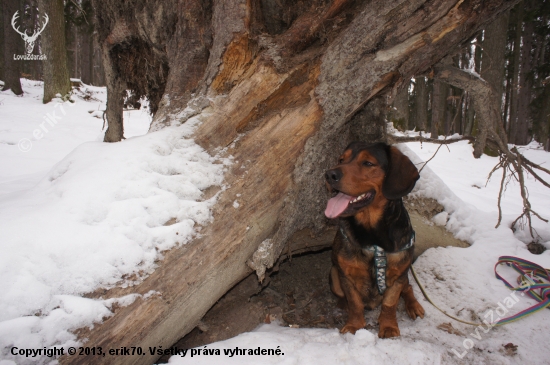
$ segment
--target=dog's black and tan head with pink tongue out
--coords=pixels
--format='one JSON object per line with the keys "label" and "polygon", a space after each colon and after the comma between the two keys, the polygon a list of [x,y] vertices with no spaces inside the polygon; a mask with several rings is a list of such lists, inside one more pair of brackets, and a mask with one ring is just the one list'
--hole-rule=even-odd
{"label": "dog's black and tan head with pink tongue out", "polygon": [[325,173],[327,187],[336,195],[328,201],[328,218],[349,217],[375,200],[400,199],[419,178],[407,156],[385,143],[352,142]]}

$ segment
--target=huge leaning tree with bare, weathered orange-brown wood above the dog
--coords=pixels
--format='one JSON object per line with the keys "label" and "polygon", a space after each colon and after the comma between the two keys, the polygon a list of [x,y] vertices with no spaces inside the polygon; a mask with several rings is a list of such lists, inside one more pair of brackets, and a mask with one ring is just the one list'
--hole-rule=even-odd
{"label": "huge leaning tree with bare, weathered orange-brown wood above the dog", "polygon": [[102,293],[161,295],[118,308],[81,338],[104,348],[167,348],[250,272],[263,278],[282,254],[315,249],[287,242],[298,231],[327,229],[322,176],[337,154],[352,139],[387,140],[387,99],[400,84],[429,72],[517,2],[96,0],[105,141],[123,138],[129,89],[148,97],[152,130],[202,112],[195,141],[210,152],[227,148],[235,163],[201,237],[168,252],[138,287]]}

